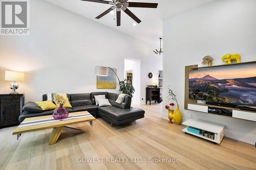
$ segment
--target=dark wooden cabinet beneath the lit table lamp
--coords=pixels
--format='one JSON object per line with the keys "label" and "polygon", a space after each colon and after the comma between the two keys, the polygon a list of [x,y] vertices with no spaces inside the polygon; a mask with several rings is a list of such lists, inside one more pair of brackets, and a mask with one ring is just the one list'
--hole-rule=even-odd
{"label": "dark wooden cabinet beneath the lit table lamp", "polygon": [[0,128],[19,124],[24,94],[0,94]]}

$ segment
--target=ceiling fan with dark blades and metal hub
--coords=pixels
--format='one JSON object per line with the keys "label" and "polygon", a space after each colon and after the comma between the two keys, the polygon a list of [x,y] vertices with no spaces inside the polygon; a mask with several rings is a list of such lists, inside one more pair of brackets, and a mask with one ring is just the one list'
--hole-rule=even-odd
{"label": "ceiling fan with dark blades and metal hub", "polygon": [[112,0],[112,1],[103,1],[103,0],[81,0],[81,1],[88,1],[93,3],[101,3],[101,4],[110,4],[113,5],[106,11],[104,11],[102,14],[97,16],[96,18],[99,19],[102,16],[108,14],[109,12],[116,9],[116,17],[117,17],[117,26],[121,25],[121,10],[125,12],[127,15],[129,15],[131,18],[133,18],[137,23],[140,23],[141,20],[134,15],[127,7],[138,7],[138,8],[157,8],[157,3],[133,3],[133,2],[127,2],[128,0]]}

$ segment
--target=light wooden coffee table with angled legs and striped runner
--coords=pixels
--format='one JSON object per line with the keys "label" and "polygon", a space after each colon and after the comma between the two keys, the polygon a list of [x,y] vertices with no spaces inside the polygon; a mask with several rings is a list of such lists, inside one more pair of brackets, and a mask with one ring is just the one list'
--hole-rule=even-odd
{"label": "light wooden coffee table with angled legs and striped runner", "polygon": [[82,133],[84,131],[67,127],[67,125],[79,124],[83,122],[89,122],[93,126],[93,120],[95,117],[88,111],[73,112],[69,114],[66,119],[55,120],[52,115],[48,116],[37,116],[25,118],[20,125],[14,129],[13,135],[17,135],[17,139],[22,133],[38,131],[43,129],[53,128],[50,135],[49,145],[55,144],[62,130],[70,131],[73,133]]}

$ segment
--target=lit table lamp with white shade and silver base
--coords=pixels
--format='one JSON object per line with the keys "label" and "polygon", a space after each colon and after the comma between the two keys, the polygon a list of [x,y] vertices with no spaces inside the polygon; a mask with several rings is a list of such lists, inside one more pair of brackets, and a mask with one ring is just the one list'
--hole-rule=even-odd
{"label": "lit table lamp with white shade and silver base", "polygon": [[5,71],[5,81],[14,81],[10,84],[10,88],[12,89],[10,94],[18,94],[16,90],[19,85],[16,81],[24,81],[24,72]]}

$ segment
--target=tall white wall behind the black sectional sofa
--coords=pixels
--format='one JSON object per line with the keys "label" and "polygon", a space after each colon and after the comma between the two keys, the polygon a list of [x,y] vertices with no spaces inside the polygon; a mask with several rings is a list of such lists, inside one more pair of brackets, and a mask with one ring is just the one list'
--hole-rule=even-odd
{"label": "tall white wall behind the black sectional sofa", "polygon": [[151,65],[162,62],[152,52],[154,48],[45,1],[33,0],[30,35],[0,36],[0,92],[10,91],[11,82],[4,81],[5,70],[25,72],[18,91],[25,93],[26,102],[40,101],[41,95],[48,92],[118,92],[96,89],[95,66],[117,68],[123,79],[124,59],[137,58],[144,74],[141,79],[148,83],[145,72],[161,69],[159,64]]}

